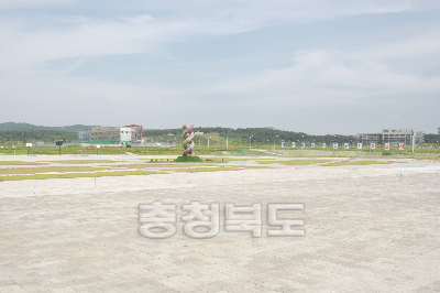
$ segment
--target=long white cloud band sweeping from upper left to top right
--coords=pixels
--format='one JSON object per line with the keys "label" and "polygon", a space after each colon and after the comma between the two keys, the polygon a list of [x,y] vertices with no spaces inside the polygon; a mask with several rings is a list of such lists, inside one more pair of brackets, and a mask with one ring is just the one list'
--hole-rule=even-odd
{"label": "long white cloud band sweeping from upper left to top right", "polygon": [[[2,1],[0,8],[41,6],[55,1]],[[190,35],[229,34],[287,22],[310,22],[366,13],[407,11],[418,1],[185,1],[151,4],[153,10],[176,11],[170,14],[139,13],[117,18],[59,14],[56,12],[0,19],[0,64],[3,69],[22,64],[68,57],[131,54],[158,50],[166,42]],[[436,2],[422,1],[424,8]],[[61,4],[61,3],[58,3]],[[81,6],[63,1],[64,6]],[[103,2],[96,2],[106,8]],[[11,4],[12,6],[12,4]],[[82,3],[84,6],[84,3]],[[95,6],[91,1],[90,6]],[[109,7],[116,6],[112,2]],[[142,4],[141,4],[142,7]],[[440,3],[437,4],[440,8]],[[144,7],[143,10],[148,10]],[[142,9],[140,9],[142,11]],[[131,11],[133,12],[133,11]],[[23,12],[26,13],[26,12]],[[38,13],[38,12],[37,12]],[[41,12],[40,12],[41,13]],[[114,12],[112,12],[114,13]],[[20,13],[18,14],[20,15]],[[40,25],[35,25],[36,19]],[[67,25],[68,24],[68,25]]]}

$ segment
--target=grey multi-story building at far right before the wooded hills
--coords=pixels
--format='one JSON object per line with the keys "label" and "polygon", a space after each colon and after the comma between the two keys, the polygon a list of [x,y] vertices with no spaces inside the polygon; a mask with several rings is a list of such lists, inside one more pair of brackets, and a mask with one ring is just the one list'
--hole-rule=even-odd
{"label": "grey multi-story building at far right before the wooded hills", "polygon": [[383,129],[382,132],[376,133],[358,133],[359,142],[389,142],[397,144],[404,142],[405,144],[413,143],[413,135],[415,135],[416,143],[425,142],[424,131],[415,131],[414,129]]}

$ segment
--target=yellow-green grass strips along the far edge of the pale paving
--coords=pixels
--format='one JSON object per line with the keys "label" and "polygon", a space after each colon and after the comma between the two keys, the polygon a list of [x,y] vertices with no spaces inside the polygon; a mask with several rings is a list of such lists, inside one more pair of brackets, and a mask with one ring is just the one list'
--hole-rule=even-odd
{"label": "yellow-green grass strips along the far edge of the pale paving", "polygon": [[[221,158],[220,158],[221,159]],[[61,160],[61,161],[38,161],[24,162],[24,161],[0,161],[0,165],[16,165],[16,167],[1,169],[0,181],[18,181],[18,180],[43,180],[43,178],[74,178],[74,177],[101,177],[101,176],[124,176],[124,175],[147,175],[158,174],[167,172],[218,172],[218,171],[240,171],[250,169],[271,169],[268,164],[282,164],[282,165],[314,165],[318,163],[324,163],[322,166],[345,166],[345,165],[370,165],[370,164],[391,164],[395,162],[383,162],[383,161],[340,161],[334,160],[289,160],[289,161],[277,161],[277,160],[261,160],[257,159],[260,166],[245,166],[245,165],[226,165],[231,158],[223,158],[224,161],[219,161],[218,158],[213,158],[212,161],[205,161],[200,163],[176,163],[174,161],[158,161],[153,162],[145,161],[140,164],[121,164],[122,161],[117,160]],[[254,161],[252,159],[239,159],[239,161]],[[231,161],[234,161],[232,158]],[[54,166],[50,165],[53,163],[64,164],[78,164],[78,166]],[[112,165],[105,166],[81,166],[80,164],[88,163],[114,163]],[[220,163],[220,164],[216,164]],[[406,162],[405,162],[406,163]],[[26,167],[21,165],[41,165],[38,167]],[[170,169],[172,167],[172,169]],[[272,166],[273,167],[273,166]],[[61,174],[54,174],[61,173]]]}

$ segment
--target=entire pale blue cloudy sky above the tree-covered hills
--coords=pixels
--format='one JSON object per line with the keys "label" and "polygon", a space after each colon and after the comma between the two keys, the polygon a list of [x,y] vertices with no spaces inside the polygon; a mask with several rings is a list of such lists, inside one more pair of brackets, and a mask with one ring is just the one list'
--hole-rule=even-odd
{"label": "entire pale blue cloudy sky above the tree-covered hills", "polygon": [[440,127],[438,0],[0,0],[0,122]]}

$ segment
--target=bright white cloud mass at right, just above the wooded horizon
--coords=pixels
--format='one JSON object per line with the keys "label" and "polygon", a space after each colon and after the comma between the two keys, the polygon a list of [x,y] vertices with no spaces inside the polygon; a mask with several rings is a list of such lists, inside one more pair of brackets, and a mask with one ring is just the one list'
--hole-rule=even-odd
{"label": "bright white cloud mass at right, just above the wooded horizon", "polygon": [[[241,96],[243,104],[270,97],[273,102],[295,102],[299,108],[317,104],[350,105],[370,98],[440,91],[440,75],[424,76],[394,70],[386,62],[375,58],[383,56],[382,50],[386,50],[386,45],[374,52],[302,51],[295,54],[292,65],[286,68],[232,75],[188,91],[197,90],[201,96],[215,93]],[[414,53],[413,48],[409,51]]]}

